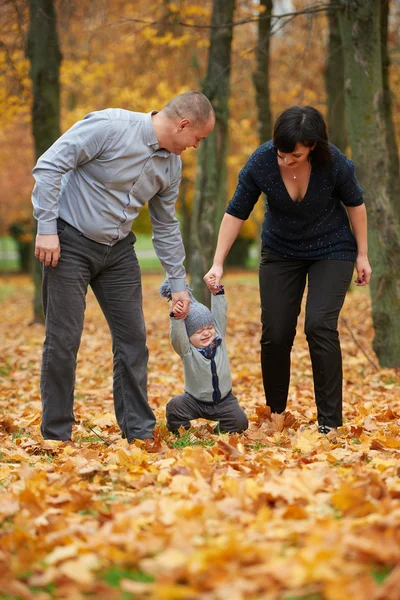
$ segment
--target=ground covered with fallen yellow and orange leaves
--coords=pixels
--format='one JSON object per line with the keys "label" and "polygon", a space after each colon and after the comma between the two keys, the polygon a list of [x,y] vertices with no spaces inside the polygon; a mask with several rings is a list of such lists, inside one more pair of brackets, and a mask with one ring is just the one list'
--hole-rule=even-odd
{"label": "ground covered with fallen yellow and orange leaves", "polygon": [[[128,445],[112,401],[109,333],[90,293],[79,352],[74,445],[43,441],[43,328],[32,287],[2,281],[0,597],[161,600],[398,600],[400,372],[378,369],[370,300],[342,313],[345,423],[316,428],[300,318],[288,412],[271,419],[259,366],[255,274],[225,278],[233,390],[250,428],[180,438],[165,404],[183,389],[160,277],[144,276],[149,399],[158,452]],[[374,364],[375,363],[375,364]]]}

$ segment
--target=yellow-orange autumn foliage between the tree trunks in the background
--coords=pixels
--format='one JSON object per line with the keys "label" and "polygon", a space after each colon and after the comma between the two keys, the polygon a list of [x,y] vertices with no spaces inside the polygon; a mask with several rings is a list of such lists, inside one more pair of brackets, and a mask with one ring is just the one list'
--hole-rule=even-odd
{"label": "yellow-orange autumn foliage between the tree trunks in the background", "polygon": [[[309,0],[283,3],[294,9]],[[314,3],[321,4],[321,3]],[[173,95],[200,89],[206,72],[210,0],[56,0],[61,64],[61,130],[93,110],[121,107],[150,111]],[[279,14],[275,3],[273,14]],[[400,8],[391,3],[389,51],[395,128],[400,132]],[[234,27],[228,155],[228,196],[240,168],[258,146],[252,74],[259,5],[237,3]],[[31,83],[25,57],[29,11],[25,0],[0,7],[0,235],[10,223],[31,214],[34,153],[30,127]],[[325,113],[324,68],[328,24],[323,13],[273,19],[270,90],[272,116],[293,104],[312,104]],[[184,155],[185,201],[191,201],[195,153]],[[178,206],[179,208],[179,206]],[[257,206],[244,235],[256,235],[262,219]]]}

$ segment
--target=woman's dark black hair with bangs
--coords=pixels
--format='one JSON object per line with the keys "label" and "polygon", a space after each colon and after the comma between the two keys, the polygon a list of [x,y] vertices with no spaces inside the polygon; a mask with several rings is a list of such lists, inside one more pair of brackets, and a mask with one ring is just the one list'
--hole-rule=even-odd
{"label": "woman's dark black hair with bangs", "polygon": [[310,160],[326,164],[332,160],[324,117],[312,106],[292,106],[279,115],[274,126],[273,142],[276,150],[291,153],[297,144],[309,148]]}

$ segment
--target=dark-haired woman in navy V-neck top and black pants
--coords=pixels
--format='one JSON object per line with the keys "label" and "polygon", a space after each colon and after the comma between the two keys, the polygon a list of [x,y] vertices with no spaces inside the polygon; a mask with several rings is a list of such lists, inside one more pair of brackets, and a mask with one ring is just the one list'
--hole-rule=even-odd
{"label": "dark-haired woman in navy V-neck top and black pants", "polygon": [[275,123],[273,139],[241,170],[221,223],[213,266],[204,276],[211,291],[219,285],[225,257],[262,192],[267,208],[259,271],[261,367],[267,405],[273,413],[286,409],[290,352],[308,280],[305,333],[319,432],[326,434],[342,424],[339,313],[354,262],[359,286],[369,283],[371,267],[366,210],[353,163],[328,142],[326,124],[315,108],[285,110]]}

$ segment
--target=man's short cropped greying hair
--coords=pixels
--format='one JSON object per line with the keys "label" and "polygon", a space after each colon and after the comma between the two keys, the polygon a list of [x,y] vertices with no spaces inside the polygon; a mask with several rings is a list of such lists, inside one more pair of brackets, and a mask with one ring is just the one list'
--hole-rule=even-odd
{"label": "man's short cropped greying hair", "polygon": [[172,98],[163,108],[169,119],[190,119],[195,127],[201,127],[214,115],[209,99],[197,91],[183,92]]}

